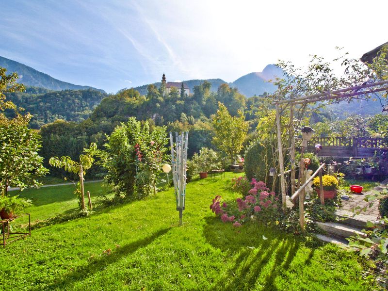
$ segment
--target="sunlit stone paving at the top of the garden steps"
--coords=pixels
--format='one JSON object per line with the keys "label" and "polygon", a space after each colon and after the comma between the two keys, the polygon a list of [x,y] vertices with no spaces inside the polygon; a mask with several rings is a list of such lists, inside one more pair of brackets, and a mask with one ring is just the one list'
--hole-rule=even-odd
{"label": "sunlit stone paving at the top of the garden steps", "polygon": [[[342,200],[341,210],[352,211],[356,206],[365,207],[368,205],[368,202],[364,201],[364,198],[368,194],[376,194],[382,192],[384,189],[388,189],[388,179],[381,182],[377,187],[374,187],[372,190],[365,193],[352,193],[352,198],[349,200]],[[375,202],[371,208],[367,208],[365,211],[362,211],[360,214],[368,215],[372,220],[378,220],[380,216],[379,203]]]}

